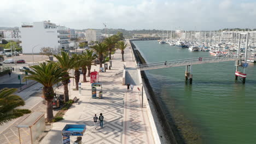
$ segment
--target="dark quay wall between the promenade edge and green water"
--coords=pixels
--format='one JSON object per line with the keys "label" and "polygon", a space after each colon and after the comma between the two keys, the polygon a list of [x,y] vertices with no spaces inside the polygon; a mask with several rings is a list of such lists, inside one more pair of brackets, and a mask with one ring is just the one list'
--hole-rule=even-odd
{"label": "dark quay wall between the promenade edge and green water", "polygon": [[[136,46],[132,43],[132,40],[130,40],[130,45],[132,47],[132,52],[135,57],[136,63],[145,64],[146,63],[145,59],[142,57],[141,53],[137,50]],[[152,86],[149,83],[146,73],[144,71],[140,71],[140,74],[141,74],[140,77],[143,80],[143,85],[146,88],[146,90],[150,96],[150,99],[152,99],[152,102],[154,104],[154,109],[157,112],[156,115],[157,115],[158,120],[161,123],[161,127],[164,131],[164,135],[162,135],[162,136],[166,137],[166,140],[168,141],[168,143],[185,143],[183,140],[183,136],[179,133],[176,125],[174,124],[174,121],[172,121],[172,119],[171,119],[172,124],[169,124],[169,122],[167,121],[165,112],[164,112],[164,110],[162,110],[160,102],[159,102],[158,98],[156,98],[156,96],[155,96],[155,93],[152,89]],[[170,121],[170,119],[169,119],[169,121]],[[162,137],[162,136],[160,136],[160,137]]]}

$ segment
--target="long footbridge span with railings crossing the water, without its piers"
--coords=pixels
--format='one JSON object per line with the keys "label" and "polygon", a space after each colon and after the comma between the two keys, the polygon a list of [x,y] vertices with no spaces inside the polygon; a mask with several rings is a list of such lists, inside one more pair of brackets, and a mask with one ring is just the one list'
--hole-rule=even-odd
{"label": "long footbridge span with railings crossing the water, without its piers", "polygon": [[[243,58],[243,56],[241,56],[241,58]],[[201,59],[187,58],[187,59],[178,59],[178,60],[174,60],[174,61],[139,64],[137,66],[137,69],[149,70],[149,69],[178,67],[178,66],[182,66],[182,65],[236,61],[237,59],[238,59],[237,55],[228,55],[228,56],[219,56],[219,57],[202,57]]]}

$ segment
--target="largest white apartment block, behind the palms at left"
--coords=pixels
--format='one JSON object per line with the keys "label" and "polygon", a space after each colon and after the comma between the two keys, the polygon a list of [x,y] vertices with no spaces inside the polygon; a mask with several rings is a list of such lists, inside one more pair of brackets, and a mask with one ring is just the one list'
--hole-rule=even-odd
{"label": "largest white apartment block, behind the palms at left", "polygon": [[22,52],[25,54],[40,53],[40,48],[51,47],[54,53],[68,50],[70,40],[69,28],[56,26],[50,21],[23,24],[20,27]]}

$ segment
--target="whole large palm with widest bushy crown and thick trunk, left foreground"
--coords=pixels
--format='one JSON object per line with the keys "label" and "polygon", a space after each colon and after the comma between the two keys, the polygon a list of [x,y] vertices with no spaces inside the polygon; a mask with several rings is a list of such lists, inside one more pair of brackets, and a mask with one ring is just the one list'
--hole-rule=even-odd
{"label": "whole large palm with widest bushy crown and thick trunk, left foreground", "polygon": [[66,71],[63,71],[59,67],[59,64],[55,62],[40,63],[39,65],[33,65],[30,67],[32,70],[26,70],[31,75],[26,75],[24,79],[34,80],[41,83],[43,87],[44,99],[47,101],[47,120],[53,120],[53,98],[54,89],[53,86],[63,80],[69,79],[65,77],[68,75]]}

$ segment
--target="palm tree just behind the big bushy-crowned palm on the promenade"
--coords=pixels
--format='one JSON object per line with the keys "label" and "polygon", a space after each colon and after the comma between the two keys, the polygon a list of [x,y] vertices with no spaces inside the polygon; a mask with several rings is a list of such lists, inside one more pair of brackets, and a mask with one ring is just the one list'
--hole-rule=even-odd
{"label": "palm tree just behind the big bushy-crowned palm on the promenade", "polygon": [[68,97],[68,82],[69,82],[69,78],[66,79],[67,77],[69,77],[69,70],[71,70],[73,68],[75,59],[74,57],[70,57],[68,55],[67,52],[62,51],[61,54],[59,55],[54,55],[54,57],[57,58],[58,62],[57,64],[59,64],[59,67],[63,70],[63,72],[66,72],[66,75],[63,75],[63,81],[62,84],[64,86],[64,101],[67,102],[69,100]]}

